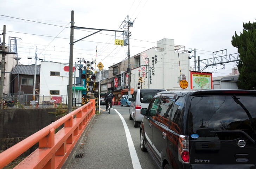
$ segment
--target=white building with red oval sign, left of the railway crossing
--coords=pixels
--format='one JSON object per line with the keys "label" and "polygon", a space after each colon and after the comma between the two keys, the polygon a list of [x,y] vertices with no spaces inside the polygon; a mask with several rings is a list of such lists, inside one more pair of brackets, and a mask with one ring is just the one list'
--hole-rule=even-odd
{"label": "white building with red oval sign, left of the railway crossing", "polygon": [[[75,65],[73,65],[75,68]],[[73,71],[73,84],[75,86],[75,95],[77,103],[81,103],[82,92],[86,90],[83,87],[83,81],[79,81],[80,71],[76,69]],[[74,77],[76,76],[76,82]],[[55,63],[41,61],[40,66],[40,96],[48,96],[47,100],[56,100],[57,103],[67,103],[68,101],[68,85],[69,85],[69,63]],[[74,86],[72,87],[74,90]],[[45,97],[44,97],[45,98]],[[49,99],[50,98],[50,99]],[[44,99],[45,100],[45,99]]]}

